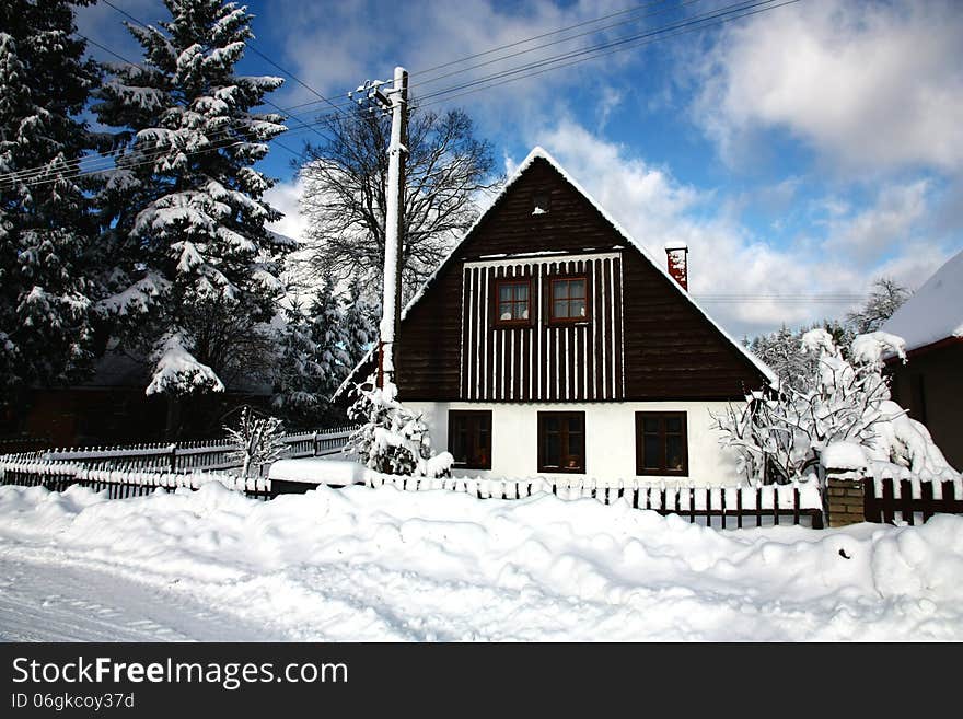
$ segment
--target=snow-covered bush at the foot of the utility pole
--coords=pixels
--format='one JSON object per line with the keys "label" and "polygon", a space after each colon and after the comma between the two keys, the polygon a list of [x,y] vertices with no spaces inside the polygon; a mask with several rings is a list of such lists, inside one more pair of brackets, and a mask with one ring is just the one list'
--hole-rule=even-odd
{"label": "snow-covered bush at the foot of the utility pole", "polygon": [[397,401],[393,383],[378,387],[371,376],[357,391],[358,401],[348,409],[348,416],[361,427],[348,439],[347,449],[357,452],[367,467],[417,477],[449,473],[454,457],[449,452],[432,455],[431,438],[420,413]]}

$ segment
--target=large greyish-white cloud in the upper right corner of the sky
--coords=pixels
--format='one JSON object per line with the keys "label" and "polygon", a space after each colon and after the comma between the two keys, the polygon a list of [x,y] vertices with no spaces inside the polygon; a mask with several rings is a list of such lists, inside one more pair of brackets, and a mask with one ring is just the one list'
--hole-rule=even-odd
{"label": "large greyish-white cloud in the upper right corner of the sky", "polygon": [[724,156],[781,128],[847,171],[963,169],[956,2],[821,0],[723,32],[698,68],[698,121]]}

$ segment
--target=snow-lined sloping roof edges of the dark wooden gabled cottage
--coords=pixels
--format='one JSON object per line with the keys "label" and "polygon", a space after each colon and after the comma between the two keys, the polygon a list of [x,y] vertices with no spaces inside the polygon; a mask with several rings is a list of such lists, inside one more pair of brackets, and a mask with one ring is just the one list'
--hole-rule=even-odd
{"label": "snow-lined sloping roof edges of the dark wooden gabled cottage", "polygon": [[[425,281],[425,283],[421,286],[421,288],[408,301],[408,303],[405,305],[405,309],[402,311],[402,320],[403,321],[408,315],[408,312],[411,310],[411,308],[414,308],[416,304],[418,304],[419,301],[421,301],[421,299],[425,297],[425,293],[434,283],[438,276],[449,265],[449,263],[454,257],[455,253],[465,243],[465,241],[472,235],[472,233],[475,231],[475,229],[478,228],[481,224],[481,222],[485,220],[485,218],[498,206],[499,200],[502,197],[504,197],[504,195],[508,193],[508,190],[511,188],[511,186],[514,185],[515,182],[518,182],[518,179],[522,175],[524,175],[525,171],[529,167],[531,167],[532,164],[536,160],[539,160],[539,159],[544,160],[549,165],[552,165],[552,167],[556,172],[558,172],[558,174],[561,175],[561,177],[576,189],[576,192],[578,192],[580,195],[582,195],[589,201],[589,204],[592,205],[592,207],[613,227],[613,229],[618,234],[620,234],[623,236],[623,239],[625,239],[631,247],[637,250],[639,252],[639,254],[641,254],[642,257],[645,257],[645,259],[647,259],[649,262],[649,264],[652,265],[652,267],[654,267],[658,271],[662,272],[662,275],[664,275],[665,278],[669,279],[671,286],[674,287],[675,290],[682,297],[684,297],[685,300],[693,308],[695,308],[696,311],[698,311],[698,313],[701,314],[703,317],[705,317],[705,320],[709,324],[711,324],[719,332],[719,334],[722,335],[722,337],[727,341],[729,341],[733,347],[735,347],[739,350],[739,352],[741,355],[743,355],[770,383],[775,384],[777,382],[776,373],[773,372],[773,370],[769,369],[769,367],[765,362],[763,362],[759,358],[757,358],[755,355],[753,355],[742,343],[734,339],[718,323],[716,323],[716,321],[712,320],[712,317],[710,317],[709,314],[701,306],[699,306],[699,304],[693,299],[692,294],[689,294],[686,290],[684,290],[682,287],[678,286],[678,282],[669,274],[669,270],[663,266],[664,264],[655,262],[655,259],[649,254],[649,252],[646,250],[646,247],[641,243],[637,242],[628,233],[628,231],[625,228],[623,228],[618,223],[618,221],[615,218],[613,218],[605,210],[605,208],[603,208],[597,201],[595,201],[595,199],[588,192],[585,192],[585,189],[571,175],[569,175],[568,172],[566,172],[566,170],[558,163],[558,161],[555,158],[553,158],[545,149],[543,149],[541,147],[534,148],[529,153],[529,155],[521,162],[521,164],[519,164],[519,166],[515,169],[515,171],[512,173],[512,175],[504,183],[504,186],[501,188],[501,190],[498,193],[498,195],[496,195],[495,198],[491,200],[491,204],[488,206],[488,208],[484,212],[481,212],[481,214],[478,217],[478,219],[475,220],[474,224],[472,224],[472,227],[468,228],[468,230],[462,235],[461,240],[459,240],[459,242],[455,243],[455,245],[451,248],[451,251],[448,253],[445,258],[439,264],[439,266],[431,274],[431,276]],[[366,364],[367,362],[372,360],[372,358],[374,356],[374,351],[376,349],[378,349],[378,345],[375,344],[366,353],[366,356],[361,359],[361,361],[358,362],[358,364],[355,367],[355,369],[351,371],[351,373],[345,379],[345,381],[341,383],[341,385],[338,387],[337,392],[335,393],[334,398],[337,398],[341,394],[341,392],[352,381],[355,381],[353,378],[355,378],[355,374],[358,372],[358,369],[360,367],[362,367],[363,364]]]}

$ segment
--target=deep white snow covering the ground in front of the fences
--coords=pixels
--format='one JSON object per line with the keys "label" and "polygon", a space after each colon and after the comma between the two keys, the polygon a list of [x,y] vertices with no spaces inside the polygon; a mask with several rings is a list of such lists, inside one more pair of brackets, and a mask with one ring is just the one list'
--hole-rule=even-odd
{"label": "deep white snow covering the ground in front of the fences", "polygon": [[960,640],[963,518],[720,532],[552,496],[0,487],[0,637]]}

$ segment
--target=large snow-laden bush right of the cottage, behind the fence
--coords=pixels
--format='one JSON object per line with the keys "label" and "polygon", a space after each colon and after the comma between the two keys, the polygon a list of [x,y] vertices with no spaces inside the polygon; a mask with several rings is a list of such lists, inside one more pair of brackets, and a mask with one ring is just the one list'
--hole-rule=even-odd
{"label": "large snow-laden bush right of the cottage, behind the fence", "polygon": [[[770,393],[755,392],[745,406],[715,417],[720,442],[738,455],[740,473],[755,484],[788,483],[817,475],[827,447],[863,448],[867,464],[893,463],[920,478],[955,476],[926,428],[890,398],[883,356],[905,361],[904,343],[882,332],[852,340],[849,359],[825,329],[802,337],[799,350],[813,370]],[[805,364],[803,364],[805,366]]]}

